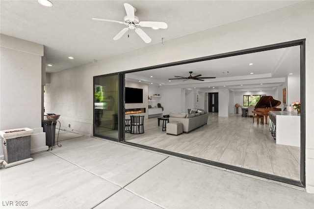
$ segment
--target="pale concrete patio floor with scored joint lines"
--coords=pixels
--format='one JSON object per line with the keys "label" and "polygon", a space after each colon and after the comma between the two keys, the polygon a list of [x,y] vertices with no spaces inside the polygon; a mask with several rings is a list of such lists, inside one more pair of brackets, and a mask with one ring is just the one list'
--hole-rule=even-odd
{"label": "pale concrete patio floor with scored joint lines", "polygon": [[1,208],[310,209],[314,205],[314,194],[301,187],[93,137],[64,140],[62,147],[31,157],[31,162],[1,167]]}

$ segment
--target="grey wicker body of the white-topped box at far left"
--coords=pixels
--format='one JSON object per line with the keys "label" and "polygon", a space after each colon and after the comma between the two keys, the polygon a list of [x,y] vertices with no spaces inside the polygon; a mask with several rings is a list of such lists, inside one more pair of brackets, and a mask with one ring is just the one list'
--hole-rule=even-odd
{"label": "grey wicker body of the white-topped box at far left", "polygon": [[27,159],[30,157],[30,135],[2,139],[4,160],[7,163]]}

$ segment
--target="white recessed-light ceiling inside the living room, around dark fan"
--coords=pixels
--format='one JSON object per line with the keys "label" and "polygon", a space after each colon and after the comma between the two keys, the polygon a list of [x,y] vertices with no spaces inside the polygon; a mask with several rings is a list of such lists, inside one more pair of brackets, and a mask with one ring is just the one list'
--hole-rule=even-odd
{"label": "white recessed-light ceiling inside the living room, around dark fan", "polygon": [[[192,76],[201,74],[202,77],[216,78],[169,82],[169,78],[174,76],[188,77],[189,71],[193,72]],[[126,74],[126,80],[182,88],[224,87],[233,91],[266,91],[283,84],[289,74],[300,74],[300,46],[134,72]]]}

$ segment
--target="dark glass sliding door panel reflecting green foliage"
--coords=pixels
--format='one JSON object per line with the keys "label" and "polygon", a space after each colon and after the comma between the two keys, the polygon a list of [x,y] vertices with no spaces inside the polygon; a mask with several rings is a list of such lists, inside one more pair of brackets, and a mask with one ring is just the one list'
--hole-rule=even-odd
{"label": "dark glass sliding door panel reflecting green foliage", "polygon": [[118,75],[94,78],[94,135],[118,139]]}

